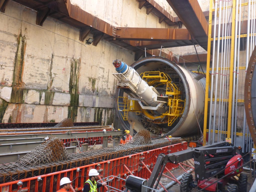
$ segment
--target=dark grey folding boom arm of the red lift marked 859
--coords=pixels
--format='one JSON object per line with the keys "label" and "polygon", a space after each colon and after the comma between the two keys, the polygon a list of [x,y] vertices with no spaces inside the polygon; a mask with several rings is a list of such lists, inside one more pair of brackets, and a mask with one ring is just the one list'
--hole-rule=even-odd
{"label": "dark grey folding boom arm of the red lift marked 859", "polygon": [[[217,142],[197,148],[191,148],[172,154],[160,154],[148,180],[147,187],[153,188],[157,177],[161,178],[166,163],[178,164],[194,158],[196,179],[209,178],[225,168],[227,162],[236,154],[236,148],[228,142]],[[157,180],[155,189],[160,179]],[[149,192],[150,189],[146,189]]]}

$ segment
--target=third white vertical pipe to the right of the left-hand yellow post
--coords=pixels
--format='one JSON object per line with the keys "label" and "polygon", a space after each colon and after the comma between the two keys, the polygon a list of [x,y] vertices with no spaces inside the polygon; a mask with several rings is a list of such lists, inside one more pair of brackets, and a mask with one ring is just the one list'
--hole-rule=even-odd
{"label": "third white vertical pipe to the right of the left-hand yellow post", "polygon": [[[223,64],[223,42],[224,42],[224,39],[223,39],[223,37],[224,37],[224,18],[225,18],[225,0],[223,1],[223,21],[222,21],[222,41],[221,41],[221,67],[220,67],[220,69],[222,70],[222,64]],[[223,109],[223,94],[221,94],[221,86],[222,87],[224,87],[224,81],[223,81],[223,85],[221,84],[222,83],[222,72],[221,72],[221,70],[220,70],[220,101],[219,101],[219,119],[218,119],[218,142],[219,142],[219,139],[220,139],[220,141],[221,141],[221,131],[222,131],[222,127],[220,126],[220,117],[221,117],[221,122],[222,122],[222,110],[221,110],[221,113],[220,113],[220,106],[221,106],[221,108]],[[223,68],[223,73],[224,73],[224,68]],[[224,77],[223,77],[223,80],[224,80]],[[221,95],[222,95],[222,97],[221,97]],[[222,104],[221,104],[221,100],[222,100]],[[221,114],[221,115],[220,115]],[[220,131],[220,134],[219,134],[219,131]]]}

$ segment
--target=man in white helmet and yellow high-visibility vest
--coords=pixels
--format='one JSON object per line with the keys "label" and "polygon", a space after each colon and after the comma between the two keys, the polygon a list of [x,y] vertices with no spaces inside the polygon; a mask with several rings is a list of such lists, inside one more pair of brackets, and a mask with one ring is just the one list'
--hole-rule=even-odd
{"label": "man in white helmet and yellow high-visibility vest", "polygon": [[97,188],[101,187],[102,185],[106,185],[105,182],[98,183],[96,182],[96,179],[98,177],[99,173],[96,169],[91,169],[89,171],[89,179],[84,183],[83,186],[83,192],[97,192]]}

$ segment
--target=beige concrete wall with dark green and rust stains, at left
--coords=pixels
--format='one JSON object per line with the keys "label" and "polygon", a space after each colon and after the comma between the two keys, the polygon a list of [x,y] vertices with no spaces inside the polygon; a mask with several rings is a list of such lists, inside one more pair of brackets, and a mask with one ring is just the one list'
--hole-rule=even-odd
{"label": "beige concrete wall with dark green and rust stains, at left", "polygon": [[[168,27],[135,0],[72,2],[115,26]],[[36,12],[13,1],[0,26],[0,122],[114,121],[112,61],[131,64],[134,52],[105,40],[87,45],[79,29],[51,17],[36,25]]]}

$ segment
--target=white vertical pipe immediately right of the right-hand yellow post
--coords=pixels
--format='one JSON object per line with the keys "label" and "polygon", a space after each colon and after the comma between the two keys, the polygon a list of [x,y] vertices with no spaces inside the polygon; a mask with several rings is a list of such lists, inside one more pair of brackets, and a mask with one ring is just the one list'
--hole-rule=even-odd
{"label": "white vertical pipe immediately right of the right-hand yellow post", "polygon": [[[236,1],[236,19],[235,19],[235,45],[234,45],[234,58],[233,58],[233,86],[232,86],[232,115],[231,115],[231,142],[234,144],[234,111],[235,111],[235,88],[236,88],[236,67],[237,67],[237,23],[238,23],[238,1]],[[238,67],[237,67],[238,68]],[[231,70],[231,69],[230,69]],[[231,73],[231,71],[230,71]],[[236,114],[237,115],[237,114]]]}

